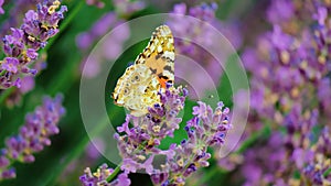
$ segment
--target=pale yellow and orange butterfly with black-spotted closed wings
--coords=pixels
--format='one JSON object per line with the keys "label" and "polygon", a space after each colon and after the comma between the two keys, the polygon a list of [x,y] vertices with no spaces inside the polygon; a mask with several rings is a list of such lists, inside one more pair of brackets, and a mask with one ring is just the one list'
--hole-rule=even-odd
{"label": "pale yellow and orange butterfly with black-spotted closed wings", "polygon": [[160,25],[135,64],[117,80],[113,92],[115,103],[130,114],[141,117],[148,107],[160,102],[159,91],[174,81],[174,45],[171,30]]}

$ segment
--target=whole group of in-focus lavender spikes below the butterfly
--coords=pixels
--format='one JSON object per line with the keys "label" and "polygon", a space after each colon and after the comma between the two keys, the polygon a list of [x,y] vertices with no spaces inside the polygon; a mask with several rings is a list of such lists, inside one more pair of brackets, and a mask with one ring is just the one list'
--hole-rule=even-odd
{"label": "whole group of in-focus lavender spikes below the butterfly", "polygon": [[92,174],[87,168],[81,176],[82,184],[128,186],[128,174],[143,171],[151,176],[154,185],[184,185],[197,168],[209,166],[211,154],[207,147],[221,146],[231,128],[229,109],[224,109],[222,102],[213,111],[210,106],[199,101],[199,106],[193,107],[193,119],[184,127],[188,139],[180,144],[171,144],[167,150],[160,147],[163,139],[172,138],[173,132],[180,129],[182,119],[177,117],[184,108],[186,96],[186,89],[170,87],[160,92],[161,103],[149,108],[146,116],[128,114],[126,122],[117,128],[119,133],[115,134],[122,157],[122,173],[115,180],[108,180],[109,176],[115,177],[111,175],[114,169],[103,165]]}

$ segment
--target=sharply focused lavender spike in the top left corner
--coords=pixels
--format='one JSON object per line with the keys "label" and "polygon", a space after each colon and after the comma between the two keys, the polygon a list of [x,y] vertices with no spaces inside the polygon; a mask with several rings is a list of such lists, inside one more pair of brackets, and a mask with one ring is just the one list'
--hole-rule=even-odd
{"label": "sharply focused lavender spike in the top left corner", "polygon": [[38,58],[39,50],[58,32],[58,22],[66,11],[58,0],[45,0],[38,3],[36,11],[25,13],[20,29],[11,28],[11,34],[2,39],[6,57],[0,62],[0,88],[20,87],[23,75],[38,73],[31,65]]}

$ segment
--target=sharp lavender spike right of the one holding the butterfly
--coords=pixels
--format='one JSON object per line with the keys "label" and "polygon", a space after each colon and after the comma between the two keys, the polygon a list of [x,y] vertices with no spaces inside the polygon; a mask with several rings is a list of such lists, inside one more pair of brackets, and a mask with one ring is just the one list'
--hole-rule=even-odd
{"label": "sharp lavender spike right of the one holding the butterfly", "polygon": [[172,144],[168,151],[162,172],[154,169],[151,175],[156,185],[184,185],[185,179],[201,167],[210,165],[209,146],[222,146],[229,130],[228,109],[223,103],[213,112],[210,106],[199,101],[193,108],[194,118],[188,121],[185,131],[188,139],[179,145]]}

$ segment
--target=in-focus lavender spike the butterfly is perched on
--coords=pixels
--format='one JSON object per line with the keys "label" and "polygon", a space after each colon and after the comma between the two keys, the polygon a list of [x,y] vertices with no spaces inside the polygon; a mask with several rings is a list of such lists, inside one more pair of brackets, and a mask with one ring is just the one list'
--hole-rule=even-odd
{"label": "in-focus lavender spike the butterfly is perched on", "polygon": [[[149,156],[163,153],[158,146],[161,140],[173,136],[173,131],[179,129],[182,120],[177,116],[184,107],[186,96],[182,88],[168,89],[164,94],[160,94],[161,105],[156,103],[146,117],[127,116],[126,122],[117,129],[125,134],[115,134],[120,156],[124,158],[121,166],[124,171],[136,172],[145,168]],[[130,121],[134,122],[131,129]]]}

